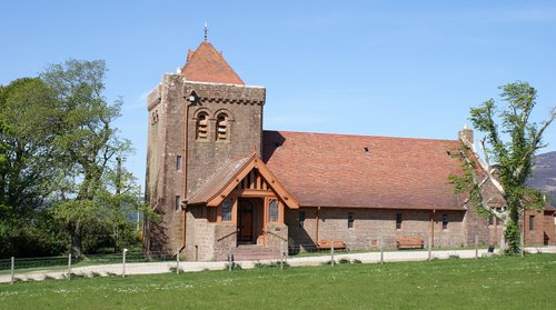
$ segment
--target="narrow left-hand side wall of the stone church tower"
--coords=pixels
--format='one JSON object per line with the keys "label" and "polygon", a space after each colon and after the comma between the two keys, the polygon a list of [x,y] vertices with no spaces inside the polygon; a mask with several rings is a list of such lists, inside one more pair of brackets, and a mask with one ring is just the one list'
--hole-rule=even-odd
{"label": "narrow left-hand side wall of the stone church tower", "polygon": [[176,210],[176,196],[180,196],[181,171],[176,171],[176,156],[182,150],[173,130],[179,124],[173,116],[181,113],[178,93],[181,91],[179,78],[172,74],[162,77],[161,83],[148,96],[149,137],[147,146],[147,201],[161,216],[160,224],[150,224],[147,241],[152,251],[177,251],[183,241],[182,217]]}

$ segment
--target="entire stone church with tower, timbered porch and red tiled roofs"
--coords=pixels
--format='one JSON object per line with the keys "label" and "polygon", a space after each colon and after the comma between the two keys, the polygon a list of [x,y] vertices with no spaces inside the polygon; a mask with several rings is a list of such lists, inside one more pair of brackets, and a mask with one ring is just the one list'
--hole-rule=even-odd
{"label": "entire stone church with tower, timbered porch and red tiled roofs", "polygon": [[[498,242],[500,223],[448,182],[470,129],[454,140],[269,131],[265,104],[266,89],[246,84],[208,40],[162,77],[147,102],[146,199],[160,214],[146,226],[147,251],[209,261],[331,240],[347,250],[396,248],[399,238],[435,248]],[[504,207],[494,187],[485,192]],[[555,244],[554,213],[527,213],[528,244]]]}

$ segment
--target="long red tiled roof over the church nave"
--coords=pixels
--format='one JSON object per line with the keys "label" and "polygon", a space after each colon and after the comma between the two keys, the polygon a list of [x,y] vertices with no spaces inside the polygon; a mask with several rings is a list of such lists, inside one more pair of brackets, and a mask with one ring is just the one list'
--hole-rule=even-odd
{"label": "long red tiled roof over the church nave", "polygon": [[458,140],[264,132],[264,161],[301,207],[464,210]]}

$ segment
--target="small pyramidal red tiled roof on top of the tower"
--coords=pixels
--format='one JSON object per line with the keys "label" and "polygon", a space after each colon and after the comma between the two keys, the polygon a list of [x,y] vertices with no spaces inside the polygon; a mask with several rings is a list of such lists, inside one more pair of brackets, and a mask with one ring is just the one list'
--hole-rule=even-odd
{"label": "small pyramidal red tiled roof on top of the tower", "polygon": [[196,51],[188,52],[181,74],[189,81],[244,84],[222,54],[208,41],[200,43]]}

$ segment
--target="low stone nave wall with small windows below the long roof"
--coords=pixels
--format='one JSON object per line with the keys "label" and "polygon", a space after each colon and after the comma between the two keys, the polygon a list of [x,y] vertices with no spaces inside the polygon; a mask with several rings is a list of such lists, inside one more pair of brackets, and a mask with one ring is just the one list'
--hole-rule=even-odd
{"label": "low stone nave wall with small windows below the long roof", "polygon": [[[304,228],[299,228],[299,211],[305,211]],[[301,208],[299,211],[288,209],[285,219],[294,251],[314,248],[317,241],[317,209]],[[431,236],[431,211],[428,210],[321,208],[318,213],[318,238],[344,240],[349,250],[373,249],[380,240],[386,248],[395,248],[397,237],[418,237],[428,247]],[[348,228],[349,213],[354,213],[353,228]],[[396,229],[397,213],[403,214],[401,229]],[[443,214],[448,216],[446,229],[443,229]],[[433,223],[435,248],[466,246],[463,220],[463,211],[436,211]]]}

